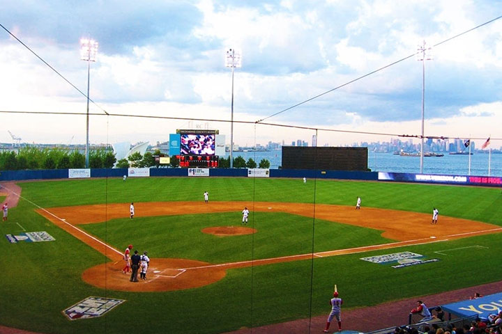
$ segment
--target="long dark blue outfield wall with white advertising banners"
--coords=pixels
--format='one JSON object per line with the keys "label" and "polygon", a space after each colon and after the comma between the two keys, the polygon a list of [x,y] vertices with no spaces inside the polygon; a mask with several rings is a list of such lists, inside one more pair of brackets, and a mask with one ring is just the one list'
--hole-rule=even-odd
{"label": "long dark blue outfield wall with white advertising banners", "polygon": [[[136,171],[136,173],[135,173]],[[257,171],[257,173],[254,173]],[[258,172],[262,173],[258,173]],[[287,177],[307,179],[364,180],[382,182],[411,182],[428,184],[461,184],[473,186],[502,186],[502,177],[473,175],[437,175],[390,172],[356,172],[308,169],[248,169],[248,168],[93,168],[53,170],[3,170],[0,181],[54,180],[86,177]]]}

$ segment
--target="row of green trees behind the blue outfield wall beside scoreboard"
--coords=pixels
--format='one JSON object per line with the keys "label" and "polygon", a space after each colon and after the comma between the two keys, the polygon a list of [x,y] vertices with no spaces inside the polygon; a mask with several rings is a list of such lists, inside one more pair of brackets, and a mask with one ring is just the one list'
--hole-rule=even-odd
{"label": "row of green trees behind the blue outfield wall beside scoreboard", "polygon": [[[159,167],[159,161],[155,156],[162,157],[164,154],[160,150],[155,150],[153,154],[146,152],[144,155],[136,152],[128,159],[116,160],[112,150],[100,149],[89,152],[89,168],[116,168],[129,167]],[[179,166],[176,156],[171,157],[171,167]],[[234,158],[234,168],[270,168],[270,161],[261,159],[259,164],[252,158],[248,161],[241,156]],[[26,146],[20,148],[18,152],[0,152],[0,170],[36,170],[36,169],[68,169],[85,168],[85,156],[78,150],[68,150],[66,148],[37,148]],[[219,168],[230,168],[230,157],[219,159]]]}

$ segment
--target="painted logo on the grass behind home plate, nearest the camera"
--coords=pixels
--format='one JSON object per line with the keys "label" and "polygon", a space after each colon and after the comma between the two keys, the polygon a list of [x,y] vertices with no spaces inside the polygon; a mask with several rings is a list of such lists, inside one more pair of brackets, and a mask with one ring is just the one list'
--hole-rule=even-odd
{"label": "painted logo on the grass behind home plate, nearest the camera", "polygon": [[124,299],[91,296],[87,297],[83,301],[79,301],[62,312],[63,315],[66,315],[66,317],[70,320],[101,317],[102,315],[105,315],[106,312],[112,310],[124,301]]}

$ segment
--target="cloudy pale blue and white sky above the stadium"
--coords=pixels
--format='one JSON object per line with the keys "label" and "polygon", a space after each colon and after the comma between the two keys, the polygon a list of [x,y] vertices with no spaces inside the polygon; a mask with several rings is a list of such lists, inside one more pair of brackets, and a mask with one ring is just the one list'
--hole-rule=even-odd
{"label": "cloudy pale blue and white sky above the stadium", "polygon": [[234,120],[296,126],[234,123],[237,144],[420,135],[424,83],[425,136],[502,145],[502,19],[432,47],[432,60],[413,55],[424,41],[434,46],[501,16],[499,0],[5,2],[0,24],[61,75],[0,29],[2,143],[12,142],[8,131],[23,143],[85,142],[79,40],[91,37],[99,43],[89,71],[91,143],[162,142],[189,127],[219,129],[229,143],[225,51],[233,48],[242,54]]}

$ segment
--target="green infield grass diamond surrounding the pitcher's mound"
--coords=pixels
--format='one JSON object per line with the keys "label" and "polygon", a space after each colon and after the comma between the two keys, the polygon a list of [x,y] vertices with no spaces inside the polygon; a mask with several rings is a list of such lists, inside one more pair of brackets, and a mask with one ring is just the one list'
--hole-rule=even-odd
{"label": "green infield grass diamond surrounding the pitcher's mound", "polygon": [[[227,263],[268,257],[312,253],[373,244],[391,240],[381,231],[322,221],[284,213],[256,212],[250,216],[256,234],[217,237],[201,232],[212,226],[241,225],[238,212],[222,214],[188,214],[115,219],[107,223],[82,225],[84,230],[117,249],[132,243],[139,250],[147,249],[155,257],[179,257],[211,263]],[[141,226],[148,234],[130,234]],[[333,244],[333,236],[344,236]],[[189,236],[189,237],[188,237]],[[314,236],[312,238],[312,236]],[[312,242],[315,241],[315,242]],[[193,245],[197,244],[197,247]]]}

